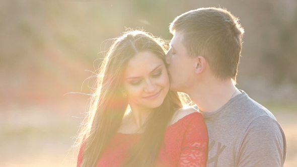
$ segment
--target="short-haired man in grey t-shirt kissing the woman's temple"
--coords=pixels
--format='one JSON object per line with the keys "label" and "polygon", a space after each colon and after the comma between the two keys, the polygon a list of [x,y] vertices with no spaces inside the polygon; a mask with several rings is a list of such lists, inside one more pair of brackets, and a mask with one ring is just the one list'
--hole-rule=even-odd
{"label": "short-haired man in grey t-shirt kissing the woman's temple", "polygon": [[198,106],[208,128],[207,166],[283,166],[284,133],[275,117],[235,87],[244,29],[225,9],[178,16],[167,63],[171,90]]}

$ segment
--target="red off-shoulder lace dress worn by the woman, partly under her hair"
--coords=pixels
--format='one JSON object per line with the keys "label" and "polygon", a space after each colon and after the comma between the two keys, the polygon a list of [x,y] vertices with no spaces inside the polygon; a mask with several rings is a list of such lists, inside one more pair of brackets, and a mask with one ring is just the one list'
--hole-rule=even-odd
{"label": "red off-shoulder lace dress worn by the woman, partly under her hair", "polygon": [[[98,159],[96,166],[119,166],[140,135],[117,133]],[[164,137],[159,154],[161,161],[157,160],[157,163],[163,166],[206,166],[208,134],[200,113],[189,114],[168,126]],[[78,167],[82,161],[81,147]]]}

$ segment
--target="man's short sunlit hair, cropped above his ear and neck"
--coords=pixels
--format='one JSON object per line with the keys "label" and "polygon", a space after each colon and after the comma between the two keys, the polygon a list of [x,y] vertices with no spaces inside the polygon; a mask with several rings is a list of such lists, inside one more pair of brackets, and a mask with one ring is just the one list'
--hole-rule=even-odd
{"label": "man's short sunlit hair, cropped above his ear and neck", "polygon": [[189,56],[203,56],[221,79],[236,82],[244,29],[226,9],[199,8],[186,12],[170,24],[170,32],[182,32]]}

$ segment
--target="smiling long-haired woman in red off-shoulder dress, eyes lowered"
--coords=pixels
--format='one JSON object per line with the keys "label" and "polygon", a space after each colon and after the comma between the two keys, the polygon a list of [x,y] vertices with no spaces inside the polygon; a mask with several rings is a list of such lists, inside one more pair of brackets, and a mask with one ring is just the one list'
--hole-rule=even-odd
{"label": "smiling long-haired woman in red off-shoulder dress, eyes lowered", "polygon": [[104,59],[78,166],[205,166],[207,129],[200,113],[169,91],[164,43],[124,33]]}

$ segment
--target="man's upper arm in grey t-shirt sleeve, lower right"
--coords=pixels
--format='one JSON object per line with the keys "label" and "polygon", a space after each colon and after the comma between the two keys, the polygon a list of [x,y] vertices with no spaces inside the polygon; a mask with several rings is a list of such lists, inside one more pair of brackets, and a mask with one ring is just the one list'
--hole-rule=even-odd
{"label": "man's upper arm in grey t-shirt sleeve, lower right", "polygon": [[286,141],[278,122],[269,116],[255,119],[246,131],[237,159],[240,166],[283,166]]}

